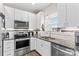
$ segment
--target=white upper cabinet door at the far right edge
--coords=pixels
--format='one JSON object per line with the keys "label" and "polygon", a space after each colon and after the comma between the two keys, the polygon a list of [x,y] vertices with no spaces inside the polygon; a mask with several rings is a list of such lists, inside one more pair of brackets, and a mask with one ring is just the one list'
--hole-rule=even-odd
{"label": "white upper cabinet door at the far right edge", "polygon": [[67,22],[68,26],[79,26],[79,4],[71,3],[67,4]]}

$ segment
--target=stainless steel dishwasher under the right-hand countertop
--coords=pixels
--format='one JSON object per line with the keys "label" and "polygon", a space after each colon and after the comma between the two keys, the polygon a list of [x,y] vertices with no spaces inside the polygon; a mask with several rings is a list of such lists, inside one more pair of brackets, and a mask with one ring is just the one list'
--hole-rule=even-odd
{"label": "stainless steel dishwasher under the right-hand countertop", "polygon": [[52,56],[74,56],[74,50],[52,43],[51,45]]}

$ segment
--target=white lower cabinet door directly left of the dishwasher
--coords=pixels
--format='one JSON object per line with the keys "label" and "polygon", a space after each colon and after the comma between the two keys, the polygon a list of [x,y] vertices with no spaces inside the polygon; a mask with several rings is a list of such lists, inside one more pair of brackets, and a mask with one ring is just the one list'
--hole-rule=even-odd
{"label": "white lower cabinet door directly left of the dishwasher", "polygon": [[51,56],[51,45],[50,42],[41,40],[41,45],[40,45],[41,49],[41,54],[43,56]]}

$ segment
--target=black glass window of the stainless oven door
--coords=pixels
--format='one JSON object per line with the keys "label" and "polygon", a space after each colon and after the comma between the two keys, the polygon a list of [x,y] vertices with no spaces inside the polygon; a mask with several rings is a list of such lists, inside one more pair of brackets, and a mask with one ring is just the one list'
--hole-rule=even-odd
{"label": "black glass window of the stainless oven door", "polygon": [[24,47],[29,47],[30,46],[30,40],[19,40],[16,41],[16,49],[24,48]]}

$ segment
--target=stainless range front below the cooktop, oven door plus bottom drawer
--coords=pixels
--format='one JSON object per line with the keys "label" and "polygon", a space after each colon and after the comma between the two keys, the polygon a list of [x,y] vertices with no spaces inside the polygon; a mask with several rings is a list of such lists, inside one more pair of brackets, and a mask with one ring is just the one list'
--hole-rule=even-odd
{"label": "stainless range front below the cooktop, oven door plus bottom drawer", "polygon": [[30,39],[16,39],[15,55],[23,56],[30,52]]}

